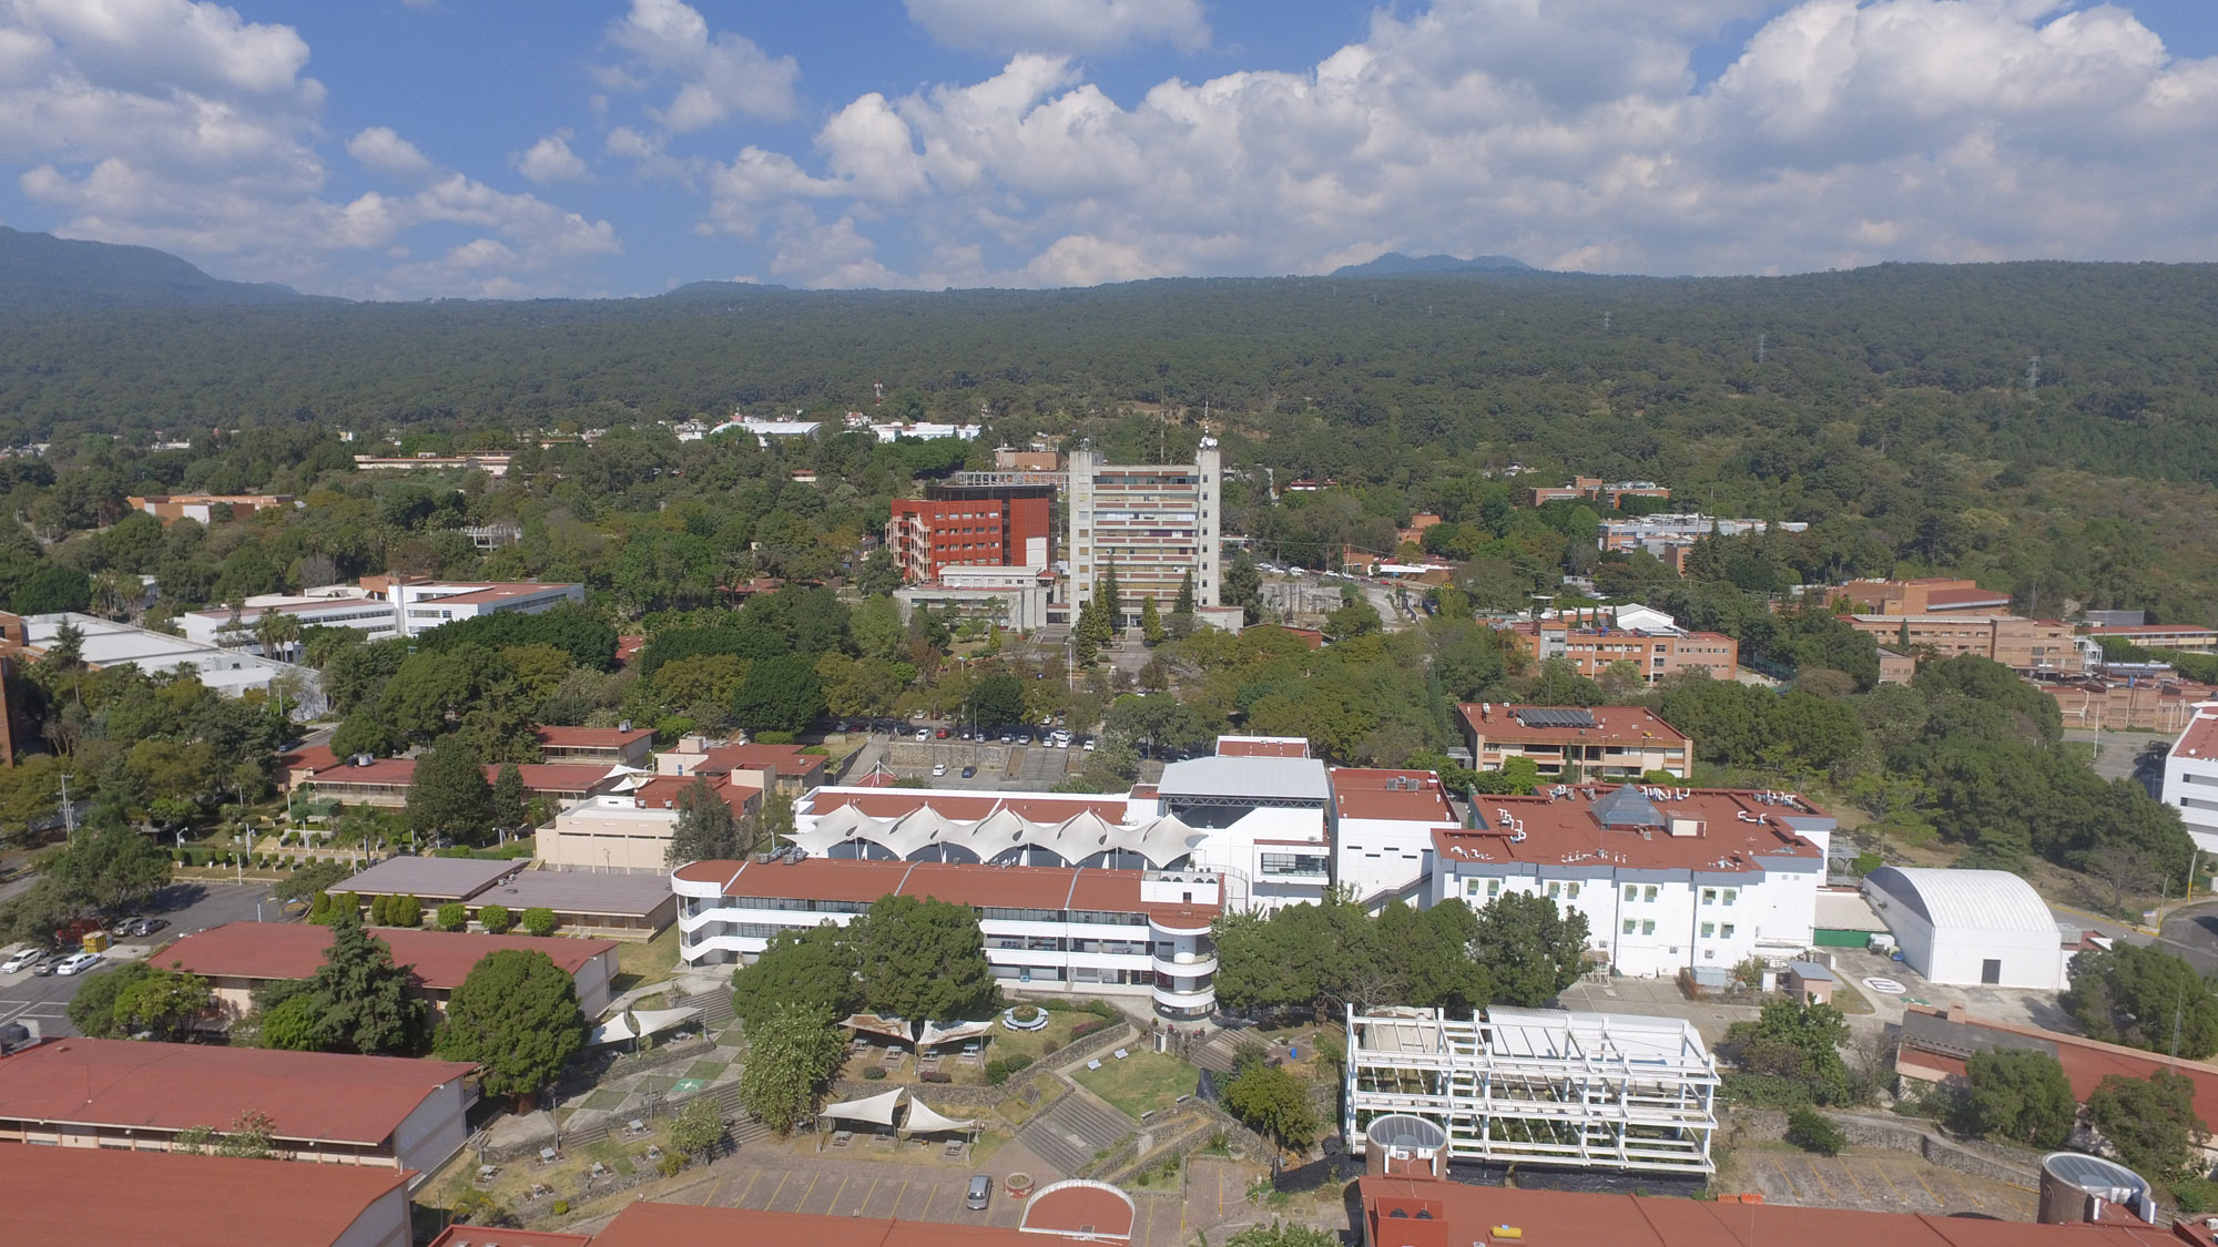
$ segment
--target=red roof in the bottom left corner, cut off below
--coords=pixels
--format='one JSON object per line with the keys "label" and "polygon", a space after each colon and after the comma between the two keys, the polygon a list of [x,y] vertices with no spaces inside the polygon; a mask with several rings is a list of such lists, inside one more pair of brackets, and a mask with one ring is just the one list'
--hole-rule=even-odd
{"label": "red roof in the bottom left corner, cut off below", "polygon": [[[415,1178],[381,1165],[29,1143],[0,1143],[0,1174],[13,1247],[333,1247],[370,1205]],[[408,1225],[406,1200],[395,1216]]]}

